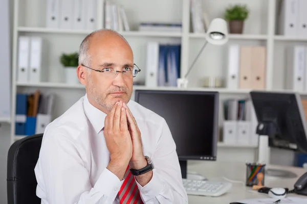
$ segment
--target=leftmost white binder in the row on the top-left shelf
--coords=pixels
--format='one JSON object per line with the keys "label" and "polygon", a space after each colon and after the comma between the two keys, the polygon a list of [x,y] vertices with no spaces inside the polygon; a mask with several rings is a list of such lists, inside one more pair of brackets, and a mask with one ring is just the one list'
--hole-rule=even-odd
{"label": "leftmost white binder in the row on the top-left shelf", "polygon": [[59,2],[60,0],[47,0],[46,27],[59,28]]}

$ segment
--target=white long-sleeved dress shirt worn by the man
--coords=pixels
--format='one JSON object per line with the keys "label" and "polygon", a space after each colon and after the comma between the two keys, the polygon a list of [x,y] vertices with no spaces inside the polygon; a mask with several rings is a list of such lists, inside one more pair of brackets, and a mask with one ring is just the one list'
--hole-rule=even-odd
{"label": "white long-sleeved dress shirt worn by the man", "polygon": [[[130,100],[127,104],[141,131],[144,155],[155,165],[150,182],[138,183],[144,203],[187,203],[176,145],[165,120]],[[35,166],[36,195],[41,203],[119,203],[123,181],[109,171],[103,135],[106,114],[81,97],[43,134]]]}

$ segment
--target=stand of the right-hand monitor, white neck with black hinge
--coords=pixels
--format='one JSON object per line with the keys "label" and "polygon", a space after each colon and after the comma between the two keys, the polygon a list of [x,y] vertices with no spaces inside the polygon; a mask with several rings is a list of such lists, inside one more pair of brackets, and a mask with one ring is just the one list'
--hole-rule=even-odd
{"label": "stand of the right-hand monitor, white neck with black hinge", "polygon": [[[257,135],[259,135],[258,140],[258,162],[259,163],[269,163],[269,136],[276,135],[277,128],[275,123],[269,122],[259,122],[256,130]],[[274,177],[283,178],[293,178],[297,175],[291,171],[281,170],[281,169],[267,169],[266,175]]]}

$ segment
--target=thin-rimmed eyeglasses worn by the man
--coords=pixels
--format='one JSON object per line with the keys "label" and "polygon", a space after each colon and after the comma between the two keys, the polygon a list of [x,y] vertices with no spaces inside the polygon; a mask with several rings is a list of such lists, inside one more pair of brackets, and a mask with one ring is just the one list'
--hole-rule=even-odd
{"label": "thin-rimmed eyeglasses worn by the man", "polygon": [[118,72],[122,72],[124,77],[134,78],[138,75],[138,73],[141,71],[141,69],[136,64],[133,64],[133,65],[134,65],[133,68],[124,67],[123,71],[117,71],[117,70],[115,70],[114,68],[111,68],[111,67],[106,67],[106,68],[99,70],[99,69],[93,69],[91,67],[85,66],[84,64],[81,64],[81,66],[92,69],[94,71],[103,72],[103,75],[105,75],[105,77],[107,77],[107,78],[113,78],[113,77],[115,78],[117,76]]}

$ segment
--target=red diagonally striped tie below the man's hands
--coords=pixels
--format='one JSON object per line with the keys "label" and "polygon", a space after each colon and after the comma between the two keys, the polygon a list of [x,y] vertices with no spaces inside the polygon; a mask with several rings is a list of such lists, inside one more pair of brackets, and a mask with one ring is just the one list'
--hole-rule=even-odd
{"label": "red diagonally striped tie below the man's hands", "polygon": [[138,185],[135,181],[134,176],[129,171],[129,166],[126,169],[124,175],[125,181],[123,182],[118,195],[119,195],[119,203],[127,203],[127,204],[143,204],[143,201],[140,196],[140,191],[138,189]]}

